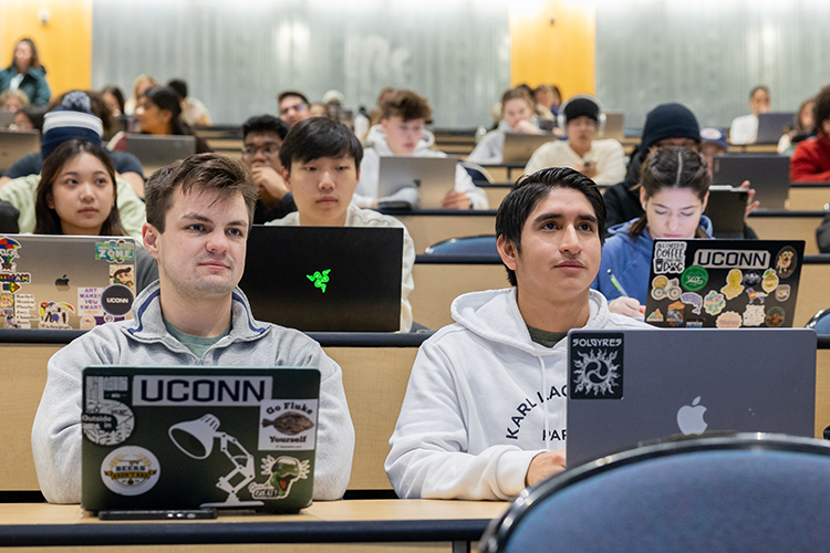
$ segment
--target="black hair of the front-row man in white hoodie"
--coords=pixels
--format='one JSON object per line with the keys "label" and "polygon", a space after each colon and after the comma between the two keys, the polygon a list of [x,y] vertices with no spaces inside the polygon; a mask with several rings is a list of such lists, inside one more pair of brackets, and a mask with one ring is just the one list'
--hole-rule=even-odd
{"label": "black hair of the front-row man in white hoodie", "polygon": [[[582,192],[593,207],[600,243],[605,239],[605,204],[596,184],[569,167],[551,167],[525,175],[513,185],[496,213],[496,236],[516,244],[521,252],[521,231],[536,206],[556,188],[570,188]],[[507,268],[507,280],[516,285],[516,272]]]}

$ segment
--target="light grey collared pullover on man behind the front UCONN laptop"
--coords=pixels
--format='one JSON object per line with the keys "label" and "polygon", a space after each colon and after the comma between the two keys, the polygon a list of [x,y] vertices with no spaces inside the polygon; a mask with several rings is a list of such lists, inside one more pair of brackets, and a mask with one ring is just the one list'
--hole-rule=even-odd
{"label": "light grey collared pullover on man behind the front UCONN laptop", "polygon": [[81,371],[89,365],[319,368],[314,499],[340,499],[349,484],[354,452],[354,428],[340,366],[301,332],[256,321],[238,288],[230,334],[196,357],[167,332],[159,298],[156,282],[136,298],[134,319],[96,326],[49,359],[46,387],[32,428],[34,466],[46,500],[81,501]]}

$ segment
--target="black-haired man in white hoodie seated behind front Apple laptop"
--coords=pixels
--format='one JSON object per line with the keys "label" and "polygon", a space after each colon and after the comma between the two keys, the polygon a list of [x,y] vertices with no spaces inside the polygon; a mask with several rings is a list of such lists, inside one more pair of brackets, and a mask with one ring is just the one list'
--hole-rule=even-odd
{"label": "black-haired man in white hoodie seated behind front Apple laptop", "polygon": [[415,359],[385,468],[402,498],[505,500],[564,469],[571,328],[647,327],[591,290],[605,207],[569,168],[526,176],[496,217],[513,288],[461,295]]}

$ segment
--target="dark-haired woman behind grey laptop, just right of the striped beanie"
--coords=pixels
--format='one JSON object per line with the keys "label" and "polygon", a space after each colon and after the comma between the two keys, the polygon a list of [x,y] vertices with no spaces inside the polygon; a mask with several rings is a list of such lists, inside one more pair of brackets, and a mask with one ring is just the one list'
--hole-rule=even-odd
{"label": "dark-haired woman behind grey laptop, just right of the striped beanie", "polygon": [[[181,104],[176,92],[168,86],[154,86],[138,98],[135,117],[142,134],[148,135],[194,135],[193,129],[181,119]],[[108,145],[114,152],[127,150],[126,133],[116,134]],[[196,136],[196,153],[212,152],[210,146]]]}

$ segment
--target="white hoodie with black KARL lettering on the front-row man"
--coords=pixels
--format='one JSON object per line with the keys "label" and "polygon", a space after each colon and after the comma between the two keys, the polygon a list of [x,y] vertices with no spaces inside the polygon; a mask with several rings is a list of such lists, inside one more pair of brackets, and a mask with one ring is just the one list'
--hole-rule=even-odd
{"label": "white hoodie with black KARL lettering on the front-row man", "polygon": [[[589,302],[585,328],[647,327]],[[533,457],[566,447],[567,341],[530,340],[516,289],[464,294],[452,313],[418,351],[386,474],[402,498],[509,499]]]}

